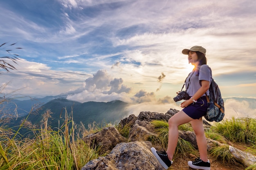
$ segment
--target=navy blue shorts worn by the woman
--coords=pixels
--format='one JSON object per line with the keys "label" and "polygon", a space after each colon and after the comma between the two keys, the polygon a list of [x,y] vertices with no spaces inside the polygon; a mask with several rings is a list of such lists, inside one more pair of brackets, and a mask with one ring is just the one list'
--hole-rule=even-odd
{"label": "navy blue shorts worn by the woman", "polygon": [[200,119],[207,112],[207,99],[205,96],[200,97],[197,102],[191,103],[191,105],[182,109],[192,119]]}

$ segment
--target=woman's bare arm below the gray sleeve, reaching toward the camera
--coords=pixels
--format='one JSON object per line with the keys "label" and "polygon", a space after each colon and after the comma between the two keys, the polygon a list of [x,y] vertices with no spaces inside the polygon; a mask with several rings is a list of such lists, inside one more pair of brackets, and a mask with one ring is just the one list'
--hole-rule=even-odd
{"label": "woman's bare arm below the gray sleeve, reaching toward the camera", "polygon": [[191,103],[193,103],[193,100],[197,100],[198,98],[200,98],[203,94],[205,94],[207,92],[207,90],[210,87],[210,82],[206,81],[206,80],[202,80],[201,81],[201,87],[200,89],[198,89],[197,92],[195,92],[195,94],[192,96],[191,99],[189,100],[185,100],[184,102],[181,103],[180,107],[187,107],[188,105],[190,105]]}

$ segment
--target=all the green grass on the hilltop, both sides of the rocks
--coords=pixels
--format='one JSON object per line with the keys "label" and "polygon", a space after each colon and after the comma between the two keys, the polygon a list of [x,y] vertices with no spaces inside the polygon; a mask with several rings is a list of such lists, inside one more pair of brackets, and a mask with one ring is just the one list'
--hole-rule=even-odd
{"label": "all the green grass on the hilltop, both sides of the rocks", "polygon": [[[97,159],[99,156],[105,156],[108,153],[101,153],[101,148],[92,148],[86,144],[82,137],[91,133],[101,131],[103,127],[113,126],[112,124],[96,123],[90,124],[85,128],[74,124],[72,120],[72,112],[68,115],[65,111],[65,122],[59,125],[58,129],[51,129],[48,124],[48,118],[51,117],[51,111],[47,110],[43,115],[40,127],[23,120],[18,131],[22,128],[29,129],[33,132],[33,137],[22,138],[18,131],[7,129],[0,126],[0,169],[9,170],[34,170],[34,169],[81,169],[88,161]],[[0,124],[1,124],[0,120]],[[158,137],[152,137],[152,143],[159,143],[164,149],[168,144],[168,122],[162,120],[154,120],[152,124]],[[124,128],[117,129],[124,137],[128,137],[130,124],[126,124]],[[78,129],[75,135],[74,130]],[[179,130],[191,131],[190,124],[179,126]],[[234,133],[235,131],[235,133]],[[80,135],[81,134],[81,135]],[[256,154],[255,142],[255,120],[249,118],[239,118],[223,120],[215,124],[209,131],[205,132],[208,138],[225,142],[223,136],[232,139],[235,142],[245,142],[252,144],[248,148],[249,152]],[[222,136],[223,135],[223,136]],[[242,140],[244,139],[244,140]],[[247,140],[245,140],[247,139]],[[175,157],[187,157],[189,154],[196,154],[194,146],[182,138],[178,139]],[[234,163],[236,160],[229,152],[226,146],[215,147],[209,152],[214,158],[223,161],[223,163]],[[247,167],[246,170],[255,169],[256,165]]]}

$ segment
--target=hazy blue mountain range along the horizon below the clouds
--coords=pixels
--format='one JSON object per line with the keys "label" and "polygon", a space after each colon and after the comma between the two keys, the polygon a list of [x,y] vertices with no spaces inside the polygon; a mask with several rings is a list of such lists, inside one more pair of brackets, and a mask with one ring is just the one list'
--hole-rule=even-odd
{"label": "hazy blue mountain range along the horizon below the clouds", "polygon": [[[11,121],[8,126],[18,126],[22,119],[25,119],[33,106],[40,109],[33,111],[28,120],[32,124],[40,124],[42,120],[42,115],[49,109],[52,114],[49,118],[49,125],[52,127],[58,127],[62,124],[65,119],[65,111],[67,114],[73,113],[72,117],[76,124],[83,123],[85,127],[88,124],[96,122],[97,124],[102,123],[118,123],[122,118],[128,116],[128,111],[126,107],[129,106],[128,103],[114,100],[110,102],[77,102],[73,100],[67,100],[66,95],[61,94],[58,96],[46,96],[43,98],[29,98],[27,100],[17,100],[13,99],[8,102],[2,103],[1,112],[2,113],[14,113],[14,109],[17,108],[17,118]],[[228,99],[237,100],[239,102],[247,101],[252,107],[256,108],[256,99],[253,98],[224,98],[224,101]],[[177,103],[179,105],[179,103]],[[8,109],[4,109],[8,108]]]}

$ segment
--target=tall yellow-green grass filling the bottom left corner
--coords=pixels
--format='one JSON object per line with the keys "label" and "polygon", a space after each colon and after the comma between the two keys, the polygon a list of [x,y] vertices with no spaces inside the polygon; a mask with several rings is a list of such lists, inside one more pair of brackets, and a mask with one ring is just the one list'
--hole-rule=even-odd
{"label": "tall yellow-green grass filling the bottom left corner", "polygon": [[[47,126],[50,116],[51,111],[47,110],[39,129],[27,120],[22,122],[19,130],[30,129],[33,138],[20,138],[18,131],[10,133],[10,129],[0,127],[3,134],[0,136],[1,170],[76,170],[88,161],[106,155],[99,155],[100,148],[90,147],[79,134],[74,134],[77,125],[72,120],[72,113],[65,112],[65,122],[57,130]],[[82,131],[83,127],[80,129]]]}

